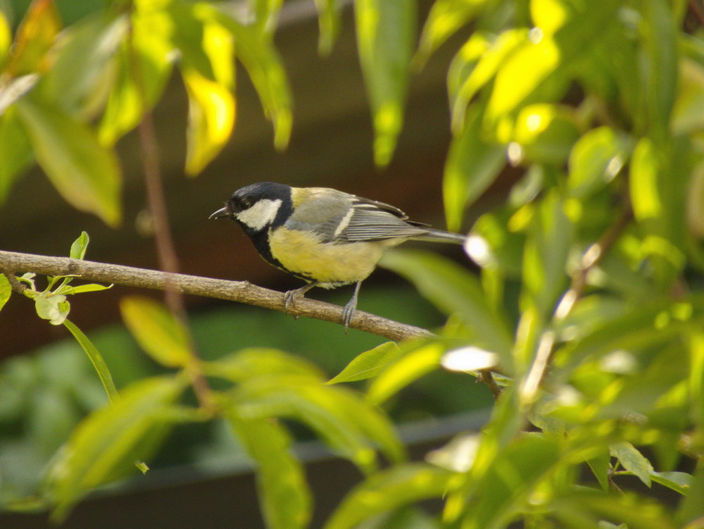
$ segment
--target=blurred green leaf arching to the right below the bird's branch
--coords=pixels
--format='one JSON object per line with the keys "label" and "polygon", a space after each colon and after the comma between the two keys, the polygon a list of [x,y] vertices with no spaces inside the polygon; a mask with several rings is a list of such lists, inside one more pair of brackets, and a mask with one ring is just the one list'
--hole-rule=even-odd
{"label": "blurred green leaf arching to the right below the bird's branch", "polygon": [[403,459],[403,447],[391,423],[342,387],[283,375],[253,378],[233,394],[242,416],[301,421],[365,472],[377,467],[375,445],[392,461]]}

